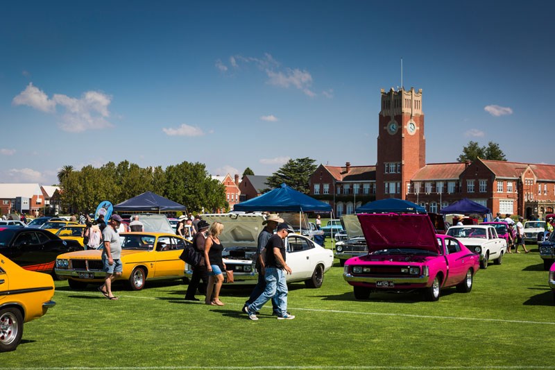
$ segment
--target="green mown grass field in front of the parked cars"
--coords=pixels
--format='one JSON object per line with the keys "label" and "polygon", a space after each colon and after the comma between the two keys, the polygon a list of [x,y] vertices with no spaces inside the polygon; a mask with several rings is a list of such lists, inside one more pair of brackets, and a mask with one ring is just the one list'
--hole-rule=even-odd
{"label": "green mown grass field in front of the parked cars", "polygon": [[250,287],[223,289],[220,308],[184,301],[187,285],[118,285],[119,301],[108,301],[58,281],[56,307],[26,323],[0,367],[553,369],[553,296],[532,250],[479,271],[469,294],[446,289],[434,303],[384,293],[355,301],[336,263],[321,289],[290,285],[291,321],[271,317],[269,303],[248,320]]}

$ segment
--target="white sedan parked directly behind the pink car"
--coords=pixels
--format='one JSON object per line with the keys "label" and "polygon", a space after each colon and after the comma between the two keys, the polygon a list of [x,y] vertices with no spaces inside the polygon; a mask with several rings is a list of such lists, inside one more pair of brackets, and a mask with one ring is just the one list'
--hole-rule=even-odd
{"label": "white sedan parked directly behind the pink car", "polygon": [[487,269],[490,260],[501,264],[503,255],[507,253],[507,241],[497,235],[493,226],[451,226],[447,235],[459,239],[470,251],[479,254],[481,269]]}

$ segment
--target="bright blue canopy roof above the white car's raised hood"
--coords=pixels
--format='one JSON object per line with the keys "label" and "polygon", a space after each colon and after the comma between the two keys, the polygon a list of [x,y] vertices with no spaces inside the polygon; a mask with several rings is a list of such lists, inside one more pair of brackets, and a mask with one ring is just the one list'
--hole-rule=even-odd
{"label": "bright blue canopy roof above the white car's raised hood", "polygon": [[234,205],[236,211],[331,212],[332,206],[285,185]]}

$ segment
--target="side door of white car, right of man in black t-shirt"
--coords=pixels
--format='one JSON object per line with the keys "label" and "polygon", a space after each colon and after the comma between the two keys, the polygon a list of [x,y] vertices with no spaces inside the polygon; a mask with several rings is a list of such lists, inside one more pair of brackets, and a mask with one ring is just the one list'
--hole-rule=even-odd
{"label": "side door of white car, right of man in black t-shirt", "polygon": [[285,246],[287,250],[286,262],[291,268],[291,277],[288,280],[302,280],[312,276],[314,267],[310,257],[314,244],[300,235],[291,235],[287,236]]}

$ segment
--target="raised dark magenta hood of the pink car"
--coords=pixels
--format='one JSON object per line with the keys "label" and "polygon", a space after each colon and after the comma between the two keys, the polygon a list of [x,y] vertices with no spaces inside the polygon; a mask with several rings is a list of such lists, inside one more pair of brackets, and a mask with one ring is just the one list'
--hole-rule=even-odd
{"label": "raised dark magenta hood of the pink car", "polygon": [[439,251],[434,225],[428,215],[382,213],[357,216],[368,253],[395,248]]}

